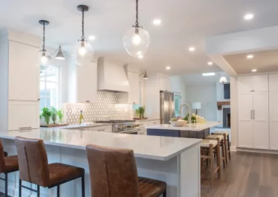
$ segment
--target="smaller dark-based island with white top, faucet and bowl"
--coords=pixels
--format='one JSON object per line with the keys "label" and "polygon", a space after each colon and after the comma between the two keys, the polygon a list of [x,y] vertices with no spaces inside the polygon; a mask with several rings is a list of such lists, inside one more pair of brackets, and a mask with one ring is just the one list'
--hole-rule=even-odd
{"label": "smaller dark-based island with white top, faucet and bowl", "polygon": [[170,124],[160,124],[154,126],[146,126],[147,135],[164,136],[164,137],[187,137],[202,139],[209,135],[210,128],[218,126],[221,121],[206,121],[204,123],[187,123],[183,127],[174,127]]}

